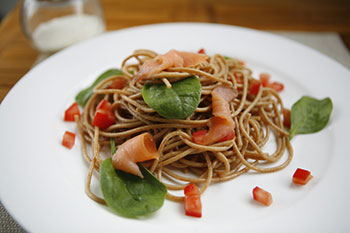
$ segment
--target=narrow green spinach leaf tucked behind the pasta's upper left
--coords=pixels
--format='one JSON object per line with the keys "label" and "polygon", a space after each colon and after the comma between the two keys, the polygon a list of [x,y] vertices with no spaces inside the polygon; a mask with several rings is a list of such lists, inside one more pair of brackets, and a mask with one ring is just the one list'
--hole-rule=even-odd
{"label": "narrow green spinach leaf tucked behind the pasta's upper left", "polygon": [[84,106],[87,101],[90,99],[90,97],[92,96],[92,93],[93,93],[93,89],[94,87],[99,84],[101,81],[109,78],[109,77],[112,77],[112,76],[115,76],[115,75],[121,75],[123,74],[120,70],[118,69],[110,69],[110,70],[107,70],[106,72],[104,72],[103,74],[101,74],[94,82],[93,84],[91,84],[91,86],[81,90],[76,96],[75,96],[75,100],[77,101],[77,103],[80,105],[80,106]]}

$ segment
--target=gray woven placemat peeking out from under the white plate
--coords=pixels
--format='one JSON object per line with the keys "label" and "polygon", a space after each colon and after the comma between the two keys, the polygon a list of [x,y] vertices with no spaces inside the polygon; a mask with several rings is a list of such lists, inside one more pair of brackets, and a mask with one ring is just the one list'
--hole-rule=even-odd
{"label": "gray woven placemat peeking out from under the white plate", "polygon": [[[312,47],[321,53],[335,59],[345,67],[350,69],[350,53],[342,42],[338,34],[309,33],[309,32],[286,32],[270,31],[271,33],[298,41],[304,45]],[[1,184],[0,184],[1,185]],[[21,226],[7,213],[0,202],[0,233],[25,232]]]}

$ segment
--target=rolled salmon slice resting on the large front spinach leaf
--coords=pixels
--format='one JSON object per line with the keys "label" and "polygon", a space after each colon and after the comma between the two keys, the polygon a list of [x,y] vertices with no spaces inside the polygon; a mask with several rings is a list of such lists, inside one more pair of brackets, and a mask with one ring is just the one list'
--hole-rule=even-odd
{"label": "rolled salmon slice resting on the large front spinach leaf", "polygon": [[143,178],[136,163],[158,158],[159,153],[152,135],[149,133],[143,133],[130,138],[120,145],[112,156],[112,163],[115,169]]}

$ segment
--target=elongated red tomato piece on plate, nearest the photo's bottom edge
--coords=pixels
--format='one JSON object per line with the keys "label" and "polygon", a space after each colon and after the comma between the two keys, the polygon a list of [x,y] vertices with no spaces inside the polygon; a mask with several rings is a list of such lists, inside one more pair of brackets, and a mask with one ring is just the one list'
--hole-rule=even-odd
{"label": "elongated red tomato piece on plate, nearest the photo's bottom edge", "polygon": [[185,214],[187,216],[202,217],[202,203],[199,188],[191,183],[184,189],[185,193]]}

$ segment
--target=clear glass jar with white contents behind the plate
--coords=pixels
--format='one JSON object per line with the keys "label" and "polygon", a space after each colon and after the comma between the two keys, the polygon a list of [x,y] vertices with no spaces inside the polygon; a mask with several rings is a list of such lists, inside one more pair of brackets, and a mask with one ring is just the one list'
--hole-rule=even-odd
{"label": "clear glass jar with white contents behind the plate", "polygon": [[55,53],[105,31],[98,0],[23,0],[21,24],[42,54]]}

